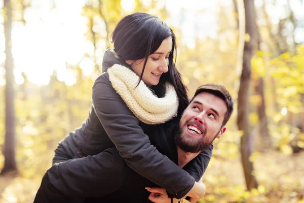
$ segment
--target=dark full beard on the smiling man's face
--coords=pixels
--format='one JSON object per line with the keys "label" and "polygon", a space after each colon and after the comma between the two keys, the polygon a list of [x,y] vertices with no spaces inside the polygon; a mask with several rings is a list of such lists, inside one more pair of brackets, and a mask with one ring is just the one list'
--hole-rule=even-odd
{"label": "dark full beard on the smiling man's face", "polygon": [[[184,126],[191,124],[192,122],[186,123]],[[207,143],[205,140],[205,136],[207,130],[204,127],[199,126],[202,129],[203,134],[200,139],[192,138],[192,136],[188,135],[186,132],[182,131],[183,127],[178,128],[177,133],[175,134],[174,140],[177,147],[179,147],[184,152],[190,153],[199,153],[209,148],[209,146],[213,143],[218,133],[215,134],[213,140]]]}

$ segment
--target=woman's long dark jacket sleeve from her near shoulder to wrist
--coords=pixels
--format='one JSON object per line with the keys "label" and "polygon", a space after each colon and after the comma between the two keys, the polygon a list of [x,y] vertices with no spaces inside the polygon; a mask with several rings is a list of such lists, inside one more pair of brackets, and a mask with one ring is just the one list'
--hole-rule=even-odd
{"label": "woman's long dark jacket sleeve from her near shoulder to wrist", "polygon": [[96,79],[92,92],[94,111],[129,167],[141,176],[181,198],[195,179],[150,144],[121,96],[113,89],[108,74]]}

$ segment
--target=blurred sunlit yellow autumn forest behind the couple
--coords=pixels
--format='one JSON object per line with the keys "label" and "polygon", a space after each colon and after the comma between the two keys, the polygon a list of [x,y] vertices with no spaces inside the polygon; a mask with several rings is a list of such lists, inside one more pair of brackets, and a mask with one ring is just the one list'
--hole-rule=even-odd
{"label": "blurred sunlit yellow autumn forest behind the couple", "polygon": [[[248,0],[249,1],[249,0]],[[250,0],[251,1],[251,0]],[[224,85],[237,101],[238,0],[12,0],[16,160],[0,177],[0,202],[32,202],[57,143],[86,119],[91,89],[111,48],[116,23],[133,12],[164,20],[177,37],[176,65],[189,95],[201,84]],[[0,149],[5,135],[5,9],[0,2]],[[255,0],[260,35],[251,60],[250,129],[256,190],[246,191],[237,111],[215,143],[201,202],[304,202],[304,3]],[[245,35],[245,41],[250,37]],[[261,94],[258,91],[263,81]],[[260,119],[264,100],[266,117]],[[237,102],[235,109],[237,109]],[[268,122],[265,122],[268,121]],[[263,132],[272,140],[263,147]],[[0,150],[0,169],[4,156]]]}

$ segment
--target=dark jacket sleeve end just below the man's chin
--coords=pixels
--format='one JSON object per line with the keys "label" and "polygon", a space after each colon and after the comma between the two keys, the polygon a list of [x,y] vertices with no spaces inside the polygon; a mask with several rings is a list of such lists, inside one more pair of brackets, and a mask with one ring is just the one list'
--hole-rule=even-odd
{"label": "dark jacket sleeve end just below the man's chin", "polygon": [[194,177],[196,182],[198,182],[205,173],[212,156],[212,150],[213,145],[210,145],[208,149],[201,152],[197,157],[183,167],[183,170]]}

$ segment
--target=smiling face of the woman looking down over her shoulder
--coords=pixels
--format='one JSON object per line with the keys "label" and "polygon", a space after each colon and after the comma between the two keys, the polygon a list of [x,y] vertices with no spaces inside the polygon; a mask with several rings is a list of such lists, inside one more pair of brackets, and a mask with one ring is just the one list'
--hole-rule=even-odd
{"label": "smiling face of the woman looking down over her shoulder", "polygon": [[[172,50],[172,38],[166,38],[161,46],[151,55],[149,55],[143,75],[142,81],[147,86],[157,85],[163,73],[168,72],[169,54]],[[132,70],[140,77],[144,58],[138,60],[126,60],[131,65]]]}

